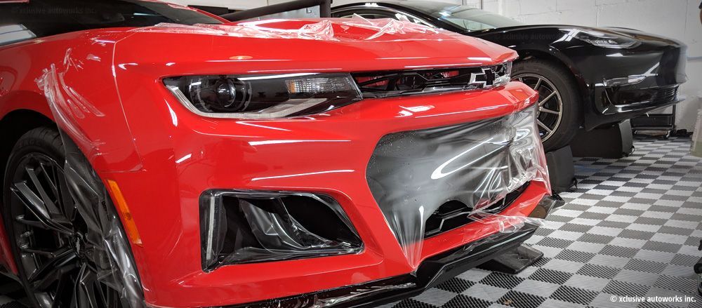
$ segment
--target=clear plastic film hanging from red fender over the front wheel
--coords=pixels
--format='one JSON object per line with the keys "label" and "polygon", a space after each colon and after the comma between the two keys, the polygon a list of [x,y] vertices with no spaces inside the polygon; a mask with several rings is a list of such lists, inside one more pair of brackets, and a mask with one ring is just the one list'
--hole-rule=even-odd
{"label": "clear plastic film hanging from red fender over the front wheel", "polygon": [[[67,59],[70,60],[69,57],[70,50],[67,52]],[[66,206],[70,210],[65,211],[72,213],[65,213],[67,221],[57,222],[69,230],[67,232],[74,241],[74,260],[78,260],[78,281],[74,286],[75,295],[72,300],[77,307],[93,307],[95,300],[102,295],[99,301],[112,298],[121,302],[121,307],[146,307],[131,246],[117,209],[86,155],[74,142],[74,138],[78,138],[81,143],[90,142],[74,120],[88,114],[98,117],[102,114],[65,83],[63,76],[68,69],[80,69],[72,63],[74,62],[64,62],[65,66],[61,69],[52,65],[37,79],[37,85],[44,91],[60,129],[66,156],[63,172],[70,199],[74,202],[74,206]],[[89,144],[95,147],[87,149],[88,151],[98,147],[95,142]],[[51,210],[47,213],[55,215]],[[107,293],[119,296],[110,297]]]}

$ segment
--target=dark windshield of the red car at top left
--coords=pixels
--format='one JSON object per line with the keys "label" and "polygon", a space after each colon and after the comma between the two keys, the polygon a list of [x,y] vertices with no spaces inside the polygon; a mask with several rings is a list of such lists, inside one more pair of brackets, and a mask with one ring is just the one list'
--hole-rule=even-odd
{"label": "dark windshield of the red car at top left", "polygon": [[[6,38],[49,36],[86,29],[146,27],[160,22],[183,25],[218,24],[199,11],[157,1],[140,0],[29,0],[0,2],[0,46]],[[15,39],[21,41],[21,39]]]}

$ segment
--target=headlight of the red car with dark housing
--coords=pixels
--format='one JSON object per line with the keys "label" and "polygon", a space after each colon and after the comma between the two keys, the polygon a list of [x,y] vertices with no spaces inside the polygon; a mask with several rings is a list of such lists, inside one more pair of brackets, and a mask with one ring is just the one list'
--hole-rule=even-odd
{"label": "headlight of the red car with dark housing", "polygon": [[213,118],[277,119],[361,100],[349,74],[181,76],[164,84],[192,112]]}

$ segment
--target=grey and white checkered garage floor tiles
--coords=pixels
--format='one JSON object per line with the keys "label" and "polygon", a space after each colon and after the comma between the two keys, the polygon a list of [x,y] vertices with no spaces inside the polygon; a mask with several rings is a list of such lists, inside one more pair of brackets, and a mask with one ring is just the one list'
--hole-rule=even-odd
{"label": "grey and white checkered garage floor tiles", "polygon": [[[702,307],[692,272],[702,256],[702,159],[687,155],[687,138],[635,147],[624,159],[576,159],[577,191],[562,194],[567,205],[528,241],[544,253],[537,265],[517,275],[472,269],[383,307]],[[656,295],[696,302],[610,300]],[[8,302],[0,296],[0,307]]]}

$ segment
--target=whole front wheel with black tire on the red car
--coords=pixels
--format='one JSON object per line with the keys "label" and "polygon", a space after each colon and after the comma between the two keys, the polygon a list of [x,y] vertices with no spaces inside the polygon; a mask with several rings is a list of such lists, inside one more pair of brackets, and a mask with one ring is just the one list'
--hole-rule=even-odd
{"label": "whole front wheel with black tire on the red car", "polygon": [[[135,271],[117,266],[135,269],[117,210],[82,154],[64,169],[65,149],[55,126],[40,127],[22,135],[8,159],[2,214],[27,297],[41,308],[143,307]],[[93,214],[81,206],[86,200]]]}

